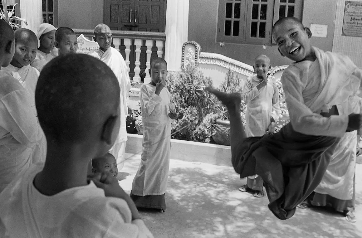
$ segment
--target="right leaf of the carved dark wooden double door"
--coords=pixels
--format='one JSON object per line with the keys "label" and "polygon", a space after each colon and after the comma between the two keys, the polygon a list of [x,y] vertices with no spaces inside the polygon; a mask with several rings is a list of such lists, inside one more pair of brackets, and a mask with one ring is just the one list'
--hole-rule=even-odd
{"label": "right leaf of the carved dark wooden double door", "polygon": [[165,0],[135,0],[135,30],[165,31]]}

